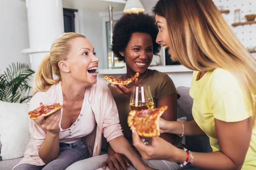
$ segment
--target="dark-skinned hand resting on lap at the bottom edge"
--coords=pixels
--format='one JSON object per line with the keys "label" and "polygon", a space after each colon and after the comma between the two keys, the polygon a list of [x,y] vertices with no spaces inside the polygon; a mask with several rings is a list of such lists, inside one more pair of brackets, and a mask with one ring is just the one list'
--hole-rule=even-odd
{"label": "dark-skinned hand resting on lap at the bottom edge", "polygon": [[102,169],[105,170],[108,166],[110,170],[127,170],[127,167],[130,167],[129,162],[130,161],[122,154],[115,153],[102,163]]}

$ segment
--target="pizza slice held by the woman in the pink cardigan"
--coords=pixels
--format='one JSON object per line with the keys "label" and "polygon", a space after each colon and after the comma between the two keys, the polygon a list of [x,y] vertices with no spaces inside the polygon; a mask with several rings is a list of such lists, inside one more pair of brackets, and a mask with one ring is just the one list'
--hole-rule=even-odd
{"label": "pizza slice held by the woman in the pink cardigan", "polygon": [[36,108],[34,111],[29,111],[29,117],[32,120],[36,120],[42,114],[44,114],[44,117],[46,117],[51,115],[52,113],[55,113],[61,108],[63,108],[63,105],[60,105],[59,103],[55,103],[53,105],[43,105],[43,103],[40,103],[40,106]]}

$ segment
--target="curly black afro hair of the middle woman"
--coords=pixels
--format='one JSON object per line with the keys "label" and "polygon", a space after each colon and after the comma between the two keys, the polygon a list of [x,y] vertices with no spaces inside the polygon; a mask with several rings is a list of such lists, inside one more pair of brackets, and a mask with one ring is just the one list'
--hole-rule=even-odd
{"label": "curly black afro hair of the middle woman", "polygon": [[154,17],[142,12],[123,14],[114,25],[111,45],[111,51],[113,51],[114,57],[118,61],[125,62],[119,51],[125,51],[128,42],[131,40],[131,35],[136,32],[150,34],[153,40],[154,55],[160,52],[161,45],[156,42],[158,28]]}

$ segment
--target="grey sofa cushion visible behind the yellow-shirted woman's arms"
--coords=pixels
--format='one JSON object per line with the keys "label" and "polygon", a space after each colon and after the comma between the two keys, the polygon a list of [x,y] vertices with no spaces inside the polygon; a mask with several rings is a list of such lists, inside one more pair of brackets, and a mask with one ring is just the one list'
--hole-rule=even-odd
{"label": "grey sofa cushion visible behind the yellow-shirted woman's arms", "polygon": [[[177,118],[185,116],[187,122],[194,120],[192,116],[193,99],[189,96],[189,89],[183,86],[177,87],[177,92],[180,94]],[[194,152],[212,152],[208,136],[186,136],[186,145],[189,150]]]}

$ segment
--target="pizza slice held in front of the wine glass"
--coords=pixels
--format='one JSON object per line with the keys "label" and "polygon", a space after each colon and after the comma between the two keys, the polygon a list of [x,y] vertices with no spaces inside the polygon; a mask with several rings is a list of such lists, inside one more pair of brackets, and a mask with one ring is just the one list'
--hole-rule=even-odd
{"label": "pizza slice held in front of the wine glass", "polygon": [[130,111],[128,126],[135,129],[140,136],[160,136],[159,118],[166,111],[167,106],[161,108],[145,109],[141,111]]}

